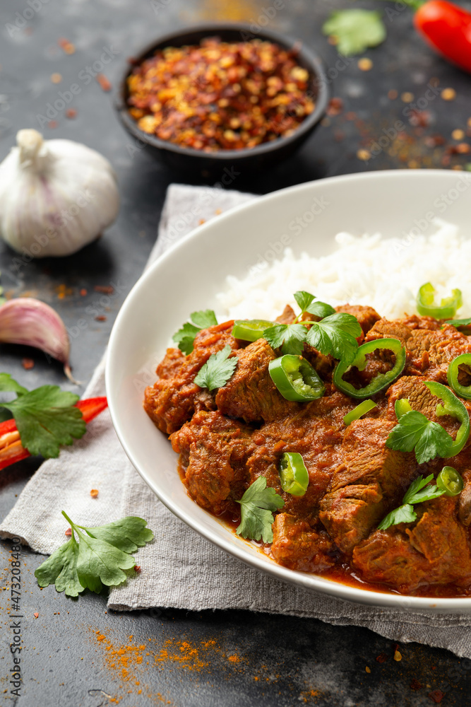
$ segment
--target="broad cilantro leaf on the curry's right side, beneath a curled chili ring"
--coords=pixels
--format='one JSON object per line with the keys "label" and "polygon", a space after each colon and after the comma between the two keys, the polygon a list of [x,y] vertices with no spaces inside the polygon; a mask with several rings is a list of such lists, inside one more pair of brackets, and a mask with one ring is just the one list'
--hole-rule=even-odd
{"label": "broad cilantro leaf on the curry's right side, beneath a curled chili ring", "polygon": [[386,440],[386,447],[400,452],[412,452],[419,464],[435,457],[448,457],[453,438],[437,422],[432,422],[417,410],[402,415]]}

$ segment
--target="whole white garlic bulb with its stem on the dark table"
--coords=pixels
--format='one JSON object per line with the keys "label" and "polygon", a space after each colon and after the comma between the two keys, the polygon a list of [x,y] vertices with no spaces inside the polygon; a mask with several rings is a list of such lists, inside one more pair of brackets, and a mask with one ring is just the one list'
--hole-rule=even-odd
{"label": "whole white garlic bulb with its stem on the dark table", "polygon": [[0,235],[28,259],[71,255],[117,216],[112,166],[71,140],[20,130],[0,164]]}

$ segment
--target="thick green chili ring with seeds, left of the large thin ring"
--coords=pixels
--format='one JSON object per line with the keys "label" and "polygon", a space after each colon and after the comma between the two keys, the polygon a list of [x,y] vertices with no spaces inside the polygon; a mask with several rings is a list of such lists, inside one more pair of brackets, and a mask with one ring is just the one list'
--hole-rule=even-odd
{"label": "thick green chili ring with seeds, left of the large thin ring", "polygon": [[268,373],[286,400],[308,402],[322,397],[326,392],[321,378],[302,356],[286,354],[275,358],[268,364]]}

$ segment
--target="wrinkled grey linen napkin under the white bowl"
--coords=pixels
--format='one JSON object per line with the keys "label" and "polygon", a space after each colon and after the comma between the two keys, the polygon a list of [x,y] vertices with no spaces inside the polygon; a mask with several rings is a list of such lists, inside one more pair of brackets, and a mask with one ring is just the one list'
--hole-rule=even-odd
{"label": "wrinkled grey linen napkin under the white bowl", "polygon": [[[215,218],[220,211],[253,198],[234,191],[172,185],[149,262],[201,219]],[[105,395],[104,370],[103,360],[84,397]],[[91,498],[90,489],[99,489],[97,498]],[[395,641],[427,643],[471,658],[471,614],[412,613],[407,600],[400,611],[335,600],[275,580],[198,536],[157,500],[133,469],[108,411],[90,423],[82,440],[61,450],[59,459],[42,464],[1,523],[0,534],[19,536],[35,551],[50,554],[65,540],[62,508],[83,525],[139,515],[155,533],[155,540],[135,554],[141,573],[110,591],[110,609],[251,609],[292,614],[340,626],[366,626]]]}

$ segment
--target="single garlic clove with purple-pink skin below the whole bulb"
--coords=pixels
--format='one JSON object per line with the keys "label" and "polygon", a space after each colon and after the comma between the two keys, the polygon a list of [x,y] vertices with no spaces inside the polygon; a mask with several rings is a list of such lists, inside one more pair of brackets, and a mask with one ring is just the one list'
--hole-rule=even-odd
{"label": "single garlic clove with purple-pink skin below the whole bulb", "polygon": [[32,297],[18,297],[1,305],[0,342],[41,349],[47,356],[64,363],[67,378],[78,383],[68,363],[71,344],[66,326],[57,312],[45,302]]}

